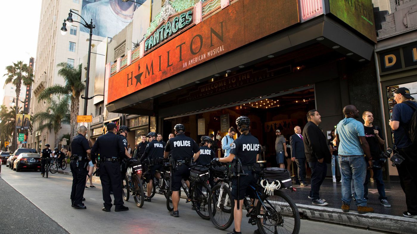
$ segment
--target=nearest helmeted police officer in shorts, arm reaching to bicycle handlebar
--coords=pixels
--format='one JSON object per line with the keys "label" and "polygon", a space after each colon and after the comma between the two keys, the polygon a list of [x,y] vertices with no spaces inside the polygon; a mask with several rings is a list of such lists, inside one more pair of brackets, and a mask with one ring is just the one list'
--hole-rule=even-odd
{"label": "nearest helmeted police officer in shorts, arm reaching to bicycle handlebar", "polygon": [[[234,199],[235,204],[237,204],[237,200],[239,200],[239,209],[237,206],[234,206],[234,225],[235,228],[233,232],[228,234],[240,234],[240,226],[242,222],[242,209],[243,206],[243,199],[246,193],[246,189],[249,187],[250,184],[255,185],[256,180],[252,174],[252,165],[256,163],[259,158],[259,153],[261,152],[261,147],[259,145],[259,140],[256,139],[251,133],[249,133],[249,126],[250,126],[250,119],[247,116],[240,116],[236,119],[236,125],[238,127],[238,131],[241,133],[239,138],[237,138],[234,143],[232,143],[230,147],[230,155],[226,158],[214,158],[214,161],[220,161],[222,163],[231,162],[235,157],[239,159],[242,163],[242,170],[245,173],[248,173],[247,176],[238,176],[234,177],[232,181],[232,197]],[[238,172],[241,173],[241,172]],[[238,180],[239,180],[239,187],[238,187]],[[238,197],[238,190],[239,190],[239,197]],[[255,198],[254,195],[250,195],[249,197]]]}

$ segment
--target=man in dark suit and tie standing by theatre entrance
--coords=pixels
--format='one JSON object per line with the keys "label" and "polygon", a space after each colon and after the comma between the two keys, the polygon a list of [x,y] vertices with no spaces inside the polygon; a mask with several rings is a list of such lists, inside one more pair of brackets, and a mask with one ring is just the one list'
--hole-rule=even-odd
{"label": "man in dark suit and tie standing by theatre entrance", "polygon": [[295,126],[294,132],[295,134],[289,138],[289,144],[291,146],[291,160],[295,162],[298,167],[298,178],[296,178],[296,184],[304,187],[308,184],[305,181],[306,154],[304,153],[304,142],[300,126]]}

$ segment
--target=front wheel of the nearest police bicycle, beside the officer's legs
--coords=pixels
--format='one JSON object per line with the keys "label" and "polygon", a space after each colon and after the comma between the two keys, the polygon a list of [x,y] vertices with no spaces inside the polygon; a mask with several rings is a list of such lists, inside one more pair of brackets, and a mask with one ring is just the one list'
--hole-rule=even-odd
{"label": "front wheel of the nearest police bicycle, beside the officer's legs", "polygon": [[208,214],[217,229],[225,230],[233,222],[234,200],[227,186],[215,185],[208,195]]}

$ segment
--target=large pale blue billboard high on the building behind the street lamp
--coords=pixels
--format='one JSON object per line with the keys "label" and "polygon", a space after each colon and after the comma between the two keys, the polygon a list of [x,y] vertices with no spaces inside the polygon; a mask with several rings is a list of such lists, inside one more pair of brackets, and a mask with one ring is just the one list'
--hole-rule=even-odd
{"label": "large pale blue billboard high on the building behind the street lamp", "polygon": [[[81,15],[90,23],[93,20],[93,34],[100,37],[113,37],[133,20],[133,12],[145,0],[109,1],[109,0],[83,0]],[[75,19],[74,19],[75,20]],[[81,32],[90,33],[86,27]]]}

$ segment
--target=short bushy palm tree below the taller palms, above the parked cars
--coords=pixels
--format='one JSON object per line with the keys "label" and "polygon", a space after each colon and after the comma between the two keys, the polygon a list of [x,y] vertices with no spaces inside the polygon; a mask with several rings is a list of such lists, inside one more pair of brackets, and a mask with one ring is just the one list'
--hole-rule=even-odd
{"label": "short bushy palm tree below the taller palms, above the parked cars", "polygon": [[58,145],[58,132],[61,129],[61,124],[70,123],[70,103],[71,97],[65,95],[61,98],[48,99],[48,108],[46,111],[38,112],[33,116],[33,121],[39,124],[38,131],[43,131],[45,129],[55,133],[55,146]]}

